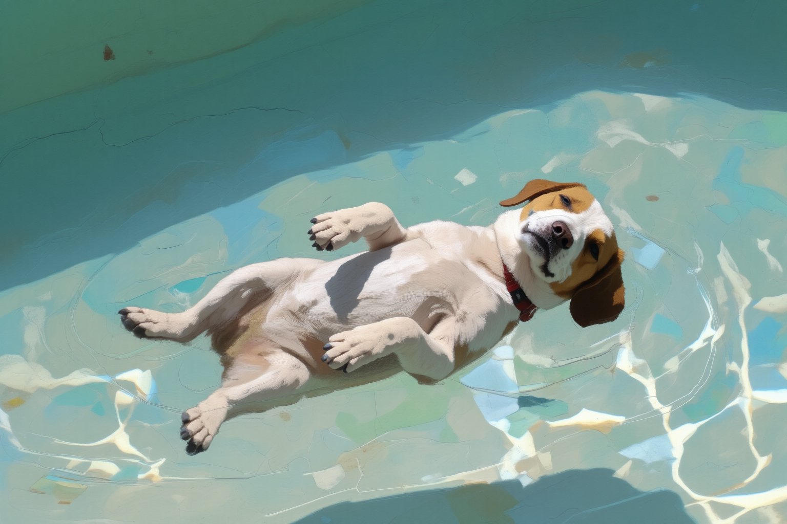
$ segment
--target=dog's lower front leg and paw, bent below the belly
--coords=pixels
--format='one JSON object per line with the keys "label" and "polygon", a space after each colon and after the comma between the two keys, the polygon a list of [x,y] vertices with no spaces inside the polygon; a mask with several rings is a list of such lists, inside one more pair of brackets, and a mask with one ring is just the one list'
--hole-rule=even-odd
{"label": "dog's lower front leg and paw, bent below the belly", "polygon": [[362,365],[387,354],[396,353],[405,372],[413,376],[441,380],[453,372],[453,319],[440,321],[430,333],[412,318],[395,317],[337,333],[325,345],[326,361],[331,368],[353,372]]}

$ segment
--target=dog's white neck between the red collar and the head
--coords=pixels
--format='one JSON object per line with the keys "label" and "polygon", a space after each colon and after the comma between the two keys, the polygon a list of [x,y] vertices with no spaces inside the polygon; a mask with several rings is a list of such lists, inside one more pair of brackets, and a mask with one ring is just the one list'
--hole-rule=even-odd
{"label": "dog's white neck between the red collar and the head", "polygon": [[538,308],[559,306],[565,299],[555,295],[549,283],[538,278],[530,268],[530,256],[519,244],[519,210],[506,211],[490,225],[503,263],[522,286],[523,291]]}

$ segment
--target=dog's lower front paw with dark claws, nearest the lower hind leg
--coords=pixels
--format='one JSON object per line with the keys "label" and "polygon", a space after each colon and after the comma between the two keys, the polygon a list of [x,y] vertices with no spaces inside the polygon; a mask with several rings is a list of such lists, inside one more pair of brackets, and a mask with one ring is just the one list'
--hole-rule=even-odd
{"label": "dog's lower front paw with dark claws, nearest the lower hind leg", "polygon": [[331,336],[323,347],[323,362],[332,369],[352,372],[390,354],[393,350],[392,343],[393,335],[386,335],[379,328],[361,326]]}

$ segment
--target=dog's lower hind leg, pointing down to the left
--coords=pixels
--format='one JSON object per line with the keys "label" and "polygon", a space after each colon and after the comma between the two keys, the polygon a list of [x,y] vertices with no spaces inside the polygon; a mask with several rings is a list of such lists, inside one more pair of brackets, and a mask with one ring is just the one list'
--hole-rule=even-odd
{"label": "dog's lower hind leg, pointing down to the left", "polygon": [[[264,411],[261,406],[286,405],[309,381],[309,370],[297,358],[278,350],[263,362],[239,359],[224,372],[222,386],[194,408],[183,412],[180,438],[187,440],[186,453],[208,449],[222,423],[242,412]],[[288,401],[289,400],[289,401]]]}

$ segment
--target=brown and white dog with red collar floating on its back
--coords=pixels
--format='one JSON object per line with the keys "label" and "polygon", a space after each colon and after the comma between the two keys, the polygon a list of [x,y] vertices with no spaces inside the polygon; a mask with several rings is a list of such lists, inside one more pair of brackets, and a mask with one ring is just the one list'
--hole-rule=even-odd
{"label": "brown and white dog with red collar floating on its back", "polygon": [[243,267],[183,313],[118,313],[139,337],[212,336],[221,387],[181,417],[194,455],[243,412],[401,371],[437,383],[538,309],[568,301],[582,327],[615,320],[624,253],[600,203],[585,185],[536,179],[501,205],[525,202],[488,227],[435,221],[405,229],[382,203],[320,214],[307,232],[317,251],[361,238],[368,251]]}

